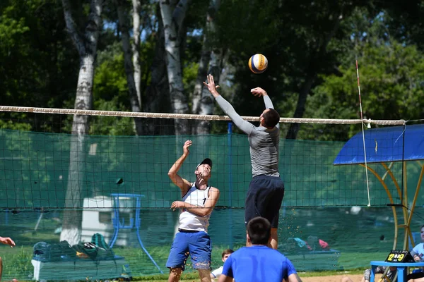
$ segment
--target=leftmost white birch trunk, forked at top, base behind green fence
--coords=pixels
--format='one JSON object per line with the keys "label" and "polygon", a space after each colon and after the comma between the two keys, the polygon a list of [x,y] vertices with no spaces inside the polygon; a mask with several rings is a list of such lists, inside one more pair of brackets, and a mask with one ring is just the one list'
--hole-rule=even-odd
{"label": "leftmost white birch trunk, forked at top, base behind green fence", "polygon": [[[80,56],[74,108],[92,109],[94,63],[101,28],[102,0],[90,1],[90,13],[82,33],[79,32],[81,29],[78,28],[76,20],[73,18],[69,0],[62,0],[61,3],[64,9],[66,29]],[[81,191],[84,183],[83,167],[86,162],[86,135],[89,127],[88,116],[73,116],[68,183],[60,235],[60,240],[66,240],[70,245],[79,243],[81,239]]]}

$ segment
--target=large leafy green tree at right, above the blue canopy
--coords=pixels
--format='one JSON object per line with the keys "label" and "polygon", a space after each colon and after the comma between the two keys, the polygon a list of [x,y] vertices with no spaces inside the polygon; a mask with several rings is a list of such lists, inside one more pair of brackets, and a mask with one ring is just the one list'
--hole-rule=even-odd
{"label": "large leafy green tree at right, above the blue canopy", "polygon": [[[364,118],[417,119],[423,115],[423,58],[415,45],[406,46],[390,37],[387,29],[391,18],[387,13],[373,16],[364,8],[356,8],[344,21],[342,30],[351,30],[351,37],[337,42],[331,49],[345,50],[338,54],[336,72],[319,76],[319,85],[312,90],[306,104],[307,118],[359,119],[360,104],[355,59],[358,59],[360,92]],[[307,139],[348,140],[360,130],[322,134],[327,125],[314,125],[318,134],[307,133]]]}

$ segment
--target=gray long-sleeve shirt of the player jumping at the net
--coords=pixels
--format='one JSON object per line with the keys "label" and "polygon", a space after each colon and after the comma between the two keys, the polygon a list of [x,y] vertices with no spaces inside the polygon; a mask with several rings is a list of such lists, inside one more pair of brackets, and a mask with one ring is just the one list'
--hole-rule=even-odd
{"label": "gray long-sleeve shirt of the player jumping at the net", "polygon": [[[266,109],[273,109],[268,96],[263,96]],[[280,176],[278,173],[278,144],[280,143],[280,124],[272,129],[254,126],[237,114],[231,104],[222,96],[215,98],[218,105],[229,116],[232,122],[247,134],[252,161],[252,176]]]}

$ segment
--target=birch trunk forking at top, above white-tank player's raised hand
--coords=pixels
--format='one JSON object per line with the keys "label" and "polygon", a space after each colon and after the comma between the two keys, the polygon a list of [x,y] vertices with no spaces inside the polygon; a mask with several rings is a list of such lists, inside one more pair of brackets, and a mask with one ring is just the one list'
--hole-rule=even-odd
{"label": "birch trunk forking at top, above white-tank player's raised hand", "polygon": [[[189,105],[184,95],[184,85],[182,83],[181,58],[179,54],[178,30],[182,28],[182,21],[187,11],[187,1],[181,0],[175,10],[170,1],[160,1],[160,14],[165,30],[165,52],[167,65],[167,78],[170,87],[171,110],[174,114],[187,114]],[[173,16],[175,14],[175,16]],[[187,120],[175,120],[175,135],[186,135],[189,133],[189,123]]]}

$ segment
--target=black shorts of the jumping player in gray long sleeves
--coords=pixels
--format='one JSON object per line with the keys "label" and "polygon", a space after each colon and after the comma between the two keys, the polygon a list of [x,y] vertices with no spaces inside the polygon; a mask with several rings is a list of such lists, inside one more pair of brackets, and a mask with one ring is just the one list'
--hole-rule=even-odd
{"label": "black shorts of the jumping player in gray long sleeves", "polygon": [[245,203],[245,223],[256,216],[268,219],[278,227],[278,216],[284,197],[284,183],[279,177],[255,176],[250,181]]}

